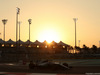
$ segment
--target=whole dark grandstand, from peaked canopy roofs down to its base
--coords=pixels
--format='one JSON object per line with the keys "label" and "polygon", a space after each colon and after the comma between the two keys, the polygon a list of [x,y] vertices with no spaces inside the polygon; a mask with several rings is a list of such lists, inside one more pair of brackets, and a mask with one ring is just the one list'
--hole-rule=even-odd
{"label": "whole dark grandstand, from peaked canopy roofs down to its base", "polygon": [[30,60],[61,59],[67,58],[67,53],[71,50],[71,46],[62,41],[47,43],[47,41],[39,42],[36,40],[35,42],[30,41],[29,46],[29,40],[26,42],[20,40],[20,45],[17,47],[16,49],[16,42],[11,39],[5,41],[5,46],[4,40],[0,39],[0,55],[2,55],[0,61],[19,62],[23,60],[27,62]]}

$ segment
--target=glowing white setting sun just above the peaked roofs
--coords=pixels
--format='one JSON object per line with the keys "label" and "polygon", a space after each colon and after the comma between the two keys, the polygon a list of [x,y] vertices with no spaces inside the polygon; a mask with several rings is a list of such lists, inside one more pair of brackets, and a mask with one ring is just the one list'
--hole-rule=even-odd
{"label": "glowing white setting sun just above the peaked roofs", "polygon": [[59,36],[55,30],[44,30],[40,33],[39,39],[41,42],[46,40],[48,43],[55,41],[59,42]]}

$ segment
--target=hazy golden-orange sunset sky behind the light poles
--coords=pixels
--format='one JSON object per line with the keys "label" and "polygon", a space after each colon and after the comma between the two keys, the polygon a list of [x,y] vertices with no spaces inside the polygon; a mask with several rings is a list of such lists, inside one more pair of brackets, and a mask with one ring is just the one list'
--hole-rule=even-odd
{"label": "hazy golden-orange sunset sky behind the light poles", "polygon": [[20,8],[20,39],[29,39],[28,19],[32,19],[31,41],[63,41],[75,45],[76,22],[77,46],[88,47],[100,41],[100,0],[0,0],[0,38],[3,39],[7,19],[5,39],[16,40],[16,7]]}

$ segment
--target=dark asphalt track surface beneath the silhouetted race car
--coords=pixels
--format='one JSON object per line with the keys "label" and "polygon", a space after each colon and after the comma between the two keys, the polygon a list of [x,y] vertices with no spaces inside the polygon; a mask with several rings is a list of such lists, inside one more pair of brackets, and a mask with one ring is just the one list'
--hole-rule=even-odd
{"label": "dark asphalt track surface beneath the silhouetted race car", "polygon": [[20,72],[20,73],[54,73],[54,74],[85,74],[100,73],[100,66],[73,66],[70,69],[29,69],[25,65],[0,65],[0,72]]}

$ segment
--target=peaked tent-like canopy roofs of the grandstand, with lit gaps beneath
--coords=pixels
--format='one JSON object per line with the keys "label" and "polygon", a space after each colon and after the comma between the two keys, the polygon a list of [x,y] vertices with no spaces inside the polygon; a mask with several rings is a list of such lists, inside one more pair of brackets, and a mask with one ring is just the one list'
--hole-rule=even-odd
{"label": "peaked tent-like canopy roofs of the grandstand, with lit gaps beneath", "polygon": [[[21,40],[18,40],[17,43],[19,43],[20,41],[20,47],[29,47],[29,40],[27,40],[26,42],[23,42]],[[2,46],[4,44],[4,40],[0,39],[0,47],[4,47]],[[9,39],[8,41],[5,41],[5,46],[6,47],[16,47],[16,42]],[[47,43],[47,41],[44,42],[39,42],[38,40],[36,40],[35,42],[31,42],[30,41],[30,47],[37,47],[37,48],[41,48],[47,46],[48,48],[56,48],[56,47],[60,47],[60,48],[66,48],[66,47],[71,47],[68,44],[63,43],[62,41],[60,41],[59,43],[56,43],[55,41],[52,41],[50,44]]]}

